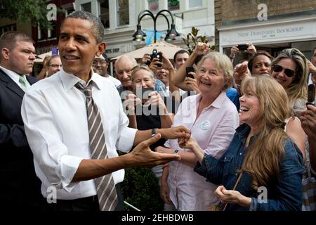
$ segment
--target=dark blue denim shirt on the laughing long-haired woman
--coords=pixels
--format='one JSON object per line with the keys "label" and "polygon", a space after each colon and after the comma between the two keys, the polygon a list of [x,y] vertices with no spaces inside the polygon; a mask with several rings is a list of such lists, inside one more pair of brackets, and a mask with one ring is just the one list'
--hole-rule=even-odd
{"label": "dark blue denim shirt on the laughing long-haired woman", "polygon": [[[202,165],[197,162],[195,172],[206,177],[206,181],[223,185],[232,190],[235,186],[246,156],[244,144],[250,132],[247,124],[242,124],[236,129],[236,133],[228,150],[220,160],[211,155],[204,155]],[[251,137],[249,145],[254,142],[256,136]],[[244,172],[235,191],[251,198],[250,207],[242,207],[237,204],[228,204],[226,210],[251,210],[251,211],[284,211],[301,210],[303,203],[302,174],[303,155],[291,139],[282,143],[284,155],[279,159],[279,176],[271,177],[267,188],[268,200],[263,201],[261,193],[251,187],[252,176]],[[259,195],[259,196],[258,196]]]}

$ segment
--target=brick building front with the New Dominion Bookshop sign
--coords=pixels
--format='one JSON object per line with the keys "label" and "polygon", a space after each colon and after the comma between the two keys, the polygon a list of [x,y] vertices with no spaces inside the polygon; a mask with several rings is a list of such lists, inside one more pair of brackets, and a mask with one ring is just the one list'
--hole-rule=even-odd
{"label": "brick building front with the New Dominion Bookshop sign", "polygon": [[[259,4],[265,4],[268,20],[262,20]],[[274,56],[296,47],[309,57],[316,46],[316,0],[215,0],[214,7],[219,51],[251,41]]]}

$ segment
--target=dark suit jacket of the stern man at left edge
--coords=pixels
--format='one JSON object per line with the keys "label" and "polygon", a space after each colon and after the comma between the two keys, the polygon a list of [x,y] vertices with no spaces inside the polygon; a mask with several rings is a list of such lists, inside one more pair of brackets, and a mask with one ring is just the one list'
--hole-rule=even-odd
{"label": "dark suit jacket of the stern man at left edge", "polygon": [[[29,84],[37,79],[27,76]],[[24,91],[0,69],[0,203],[13,210],[37,210],[41,182],[21,116]]]}

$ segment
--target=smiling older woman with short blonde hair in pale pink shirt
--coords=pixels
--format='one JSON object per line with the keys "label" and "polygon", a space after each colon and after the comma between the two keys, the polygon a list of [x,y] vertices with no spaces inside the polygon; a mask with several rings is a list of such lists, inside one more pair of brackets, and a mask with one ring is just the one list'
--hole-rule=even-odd
{"label": "smiling older woman with short blonde hair in pale pink shirt", "polygon": [[[196,79],[200,94],[185,98],[174,117],[173,126],[183,124],[191,130],[197,143],[206,155],[220,158],[228,148],[236,127],[239,125],[235,105],[225,91],[232,85],[232,63],[227,56],[218,52],[207,54],[209,47],[199,43],[184,65],[192,65],[195,58],[205,54],[197,66]],[[181,72],[181,71],[180,71]],[[197,163],[195,154],[188,148],[180,148],[177,141],[166,142],[167,148],[158,147],[161,153],[177,153],[178,162],[164,167],[162,176],[162,198],[174,205],[176,210],[207,210],[218,203],[214,195],[217,186],[193,172]]]}

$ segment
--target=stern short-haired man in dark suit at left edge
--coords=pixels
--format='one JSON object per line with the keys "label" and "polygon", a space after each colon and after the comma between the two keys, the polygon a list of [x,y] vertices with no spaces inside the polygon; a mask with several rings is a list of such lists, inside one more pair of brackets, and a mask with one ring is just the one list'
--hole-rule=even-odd
{"label": "stern short-haired man in dark suit at left edge", "polygon": [[25,91],[37,81],[33,41],[20,32],[0,37],[0,204],[6,210],[39,210],[41,183],[21,117]]}

